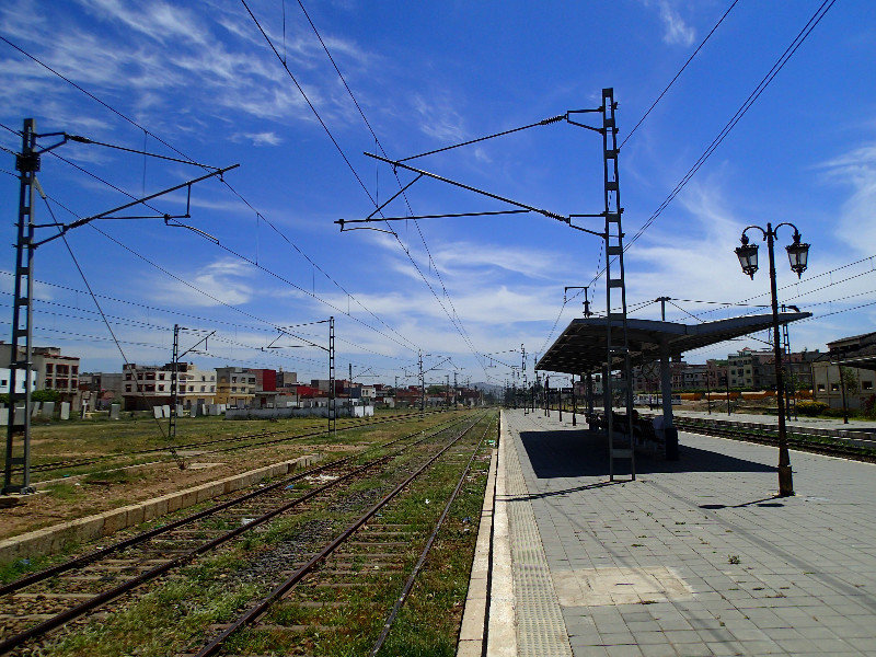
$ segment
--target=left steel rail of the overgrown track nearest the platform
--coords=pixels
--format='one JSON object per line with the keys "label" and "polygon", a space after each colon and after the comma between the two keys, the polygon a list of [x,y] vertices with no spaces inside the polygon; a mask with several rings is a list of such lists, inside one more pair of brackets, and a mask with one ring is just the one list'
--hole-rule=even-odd
{"label": "left steel rail of the overgrown track nearest the platform", "polygon": [[360,516],[357,520],[355,520],[349,527],[347,527],[341,534],[335,537],[325,548],[323,548],[315,556],[313,556],[308,563],[303,566],[298,568],[290,577],[288,577],[283,584],[277,586],[274,590],[272,590],[265,598],[258,601],[256,604],[246,610],[242,615],[240,615],[231,625],[229,625],[222,633],[214,638],[210,643],[204,646],[195,657],[208,657],[209,655],[215,655],[217,650],[222,646],[222,644],[228,639],[229,636],[234,634],[241,627],[249,625],[250,623],[257,620],[268,608],[280,597],[283,597],[289,589],[291,589],[296,584],[298,584],[308,573],[310,573],[316,564],[324,561],[328,555],[331,555],[338,546],[341,546],[350,535],[353,535],[356,530],[358,530],[362,525],[368,522],[368,520],[377,514],[380,509],[387,506],[393,498],[395,498],[402,491],[404,491],[411,482],[417,479],[420,474],[426,472],[426,470],[435,463],[447,450],[453,447],[457,442],[459,442],[479,422],[481,422],[485,415],[482,415],[477,419],[475,419],[469,427],[466,427],[463,431],[459,434],[453,440],[451,440],[448,445],[441,448],[438,453],[433,456],[424,465],[417,469],[411,476],[405,479],[401,484],[395,486],[391,493],[384,496],[380,502],[374,504],[370,509],[368,509],[362,516]]}

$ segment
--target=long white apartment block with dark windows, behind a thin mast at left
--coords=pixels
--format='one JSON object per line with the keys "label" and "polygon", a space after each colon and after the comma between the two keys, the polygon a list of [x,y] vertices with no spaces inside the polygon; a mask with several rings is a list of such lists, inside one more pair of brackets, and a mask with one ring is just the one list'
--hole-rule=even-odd
{"label": "long white apartment block with dark windows, behind a thin mast at left", "polygon": [[[177,404],[191,408],[216,403],[216,370],[201,370],[196,368],[194,362],[180,362],[176,371]],[[166,365],[129,362],[123,367],[122,373],[124,385],[122,396],[125,399],[126,410],[142,411],[171,403],[172,362]]]}

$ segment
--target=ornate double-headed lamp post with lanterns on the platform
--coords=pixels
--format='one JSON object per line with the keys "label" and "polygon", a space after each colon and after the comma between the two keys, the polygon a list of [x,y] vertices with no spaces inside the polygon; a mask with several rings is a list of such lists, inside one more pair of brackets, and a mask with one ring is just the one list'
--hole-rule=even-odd
{"label": "ornate double-headed lamp post with lanterns on the platform", "polygon": [[783,226],[789,226],[794,229],[794,243],[785,246],[787,251],[788,261],[791,261],[791,269],[800,275],[806,270],[807,258],[809,256],[809,244],[800,242],[800,231],[797,227],[787,221],[779,223],[775,228],[771,223],[766,224],[766,230],[759,226],[749,226],[742,231],[742,245],[736,249],[736,255],[739,257],[739,264],[742,266],[742,272],[748,274],[751,279],[754,279],[754,272],[758,270],[758,245],[750,244],[746,232],[756,229],[763,234],[766,240],[766,250],[770,254],[770,292],[772,296],[773,308],[773,355],[775,358],[775,397],[779,403],[779,495],[787,497],[794,495],[794,482],[791,473],[791,458],[787,452],[787,429],[785,427],[785,408],[784,397],[782,391],[784,390],[784,382],[782,380],[782,354],[780,350],[779,342],[779,301],[776,299],[775,288],[775,254],[773,250],[773,242],[776,237],[776,231]]}

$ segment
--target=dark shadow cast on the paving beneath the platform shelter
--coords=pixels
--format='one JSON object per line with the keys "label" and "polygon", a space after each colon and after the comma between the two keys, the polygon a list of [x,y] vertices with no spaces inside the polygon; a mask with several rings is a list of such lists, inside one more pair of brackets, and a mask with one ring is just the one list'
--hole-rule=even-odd
{"label": "dark shadow cast on the paving beneath the platform shelter", "polygon": [[[608,476],[608,443],[603,434],[581,430],[521,431],[520,439],[539,479]],[[683,442],[681,458],[667,461],[636,452],[636,474],[657,472],[775,472],[775,468],[754,461],[715,453]],[[616,462],[615,474],[629,473],[627,461]]]}

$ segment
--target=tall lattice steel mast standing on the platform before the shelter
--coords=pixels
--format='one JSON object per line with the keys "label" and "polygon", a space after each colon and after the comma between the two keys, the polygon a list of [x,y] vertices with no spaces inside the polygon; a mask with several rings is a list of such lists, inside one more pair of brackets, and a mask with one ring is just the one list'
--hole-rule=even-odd
{"label": "tall lattice steel mast standing on the platform before the shelter", "polygon": [[[635,449],[633,443],[633,387],[631,382],[630,341],[626,325],[626,284],[623,266],[623,228],[621,223],[621,191],[618,173],[618,126],[614,112],[614,89],[602,90],[602,165],[606,197],[606,435],[609,443],[609,480],[614,481],[614,459],[630,461],[630,477],[636,479]],[[618,276],[612,278],[611,260],[618,258]],[[612,292],[620,293],[621,312],[612,312]],[[614,447],[614,418],[611,370],[616,358],[623,362],[626,396],[626,437],[629,448]]]}

